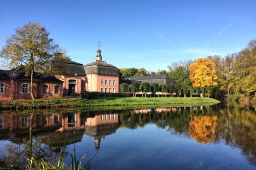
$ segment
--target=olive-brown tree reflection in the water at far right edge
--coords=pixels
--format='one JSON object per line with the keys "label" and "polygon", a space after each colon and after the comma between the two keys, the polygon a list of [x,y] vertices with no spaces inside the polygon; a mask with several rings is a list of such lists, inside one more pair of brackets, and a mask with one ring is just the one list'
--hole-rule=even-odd
{"label": "olive-brown tree reflection in the water at far right edge", "polygon": [[217,139],[242,149],[247,160],[256,165],[256,111],[255,107],[229,104],[219,110]]}

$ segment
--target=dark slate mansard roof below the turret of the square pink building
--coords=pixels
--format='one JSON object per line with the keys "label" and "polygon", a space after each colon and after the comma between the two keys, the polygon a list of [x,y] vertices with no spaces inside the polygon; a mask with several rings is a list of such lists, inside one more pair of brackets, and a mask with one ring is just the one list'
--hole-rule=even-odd
{"label": "dark slate mansard roof below the turret of the square pink building", "polygon": [[96,74],[102,76],[119,76],[117,68],[104,61],[95,61],[83,66],[85,74]]}

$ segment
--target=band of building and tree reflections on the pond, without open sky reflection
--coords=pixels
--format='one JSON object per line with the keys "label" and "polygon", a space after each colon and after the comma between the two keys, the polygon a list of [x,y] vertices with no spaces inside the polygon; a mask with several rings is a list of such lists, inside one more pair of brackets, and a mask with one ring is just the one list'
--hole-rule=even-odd
{"label": "band of building and tree reflections on the pond, without open sky reflection", "polygon": [[[226,145],[240,148],[247,161],[256,165],[256,109],[237,104],[59,114],[2,114],[0,146],[5,152],[1,160],[20,164],[29,156],[39,158],[59,153],[60,150],[65,151],[68,144],[82,142],[83,136],[92,137],[94,149],[98,152],[101,141],[115,134],[119,128],[137,129],[148,124],[198,144],[219,144],[224,141]],[[3,146],[4,141],[10,141],[10,144]]]}

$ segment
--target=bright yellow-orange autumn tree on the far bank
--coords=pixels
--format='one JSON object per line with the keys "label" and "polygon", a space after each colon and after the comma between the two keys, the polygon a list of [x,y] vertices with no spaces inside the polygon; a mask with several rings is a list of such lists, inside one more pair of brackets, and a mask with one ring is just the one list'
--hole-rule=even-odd
{"label": "bright yellow-orange autumn tree on the far bank", "polygon": [[218,85],[215,64],[208,57],[198,58],[190,66],[190,79],[193,87]]}

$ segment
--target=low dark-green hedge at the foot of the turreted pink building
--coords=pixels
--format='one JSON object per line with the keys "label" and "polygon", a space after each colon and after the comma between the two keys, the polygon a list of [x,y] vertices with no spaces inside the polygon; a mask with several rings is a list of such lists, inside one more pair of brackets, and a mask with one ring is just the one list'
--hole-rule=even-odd
{"label": "low dark-green hedge at the foot of the turreted pink building", "polygon": [[100,92],[80,93],[81,99],[93,99],[95,97],[132,97],[132,93],[100,93]]}

